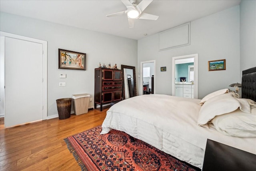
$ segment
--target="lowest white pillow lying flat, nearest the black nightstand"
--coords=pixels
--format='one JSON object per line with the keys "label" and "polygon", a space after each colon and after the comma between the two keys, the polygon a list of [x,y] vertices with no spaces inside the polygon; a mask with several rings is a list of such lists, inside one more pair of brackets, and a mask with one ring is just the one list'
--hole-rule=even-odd
{"label": "lowest white pillow lying flat, nearest the black nightstand", "polygon": [[256,137],[256,108],[251,113],[236,109],[231,113],[219,115],[212,119],[215,129],[224,135],[235,137]]}

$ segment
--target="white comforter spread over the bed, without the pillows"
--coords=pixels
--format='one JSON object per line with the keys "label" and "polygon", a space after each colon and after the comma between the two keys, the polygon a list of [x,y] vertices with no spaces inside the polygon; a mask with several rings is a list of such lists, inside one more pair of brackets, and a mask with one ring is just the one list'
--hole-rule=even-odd
{"label": "white comforter spread over the bed, without the pillows", "polygon": [[230,137],[213,127],[198,126],[199,102],[158,94],[125,99],[107,111],[102,134],[111,129],[124,131],[199,168],[207,138],[256,154],[256,138]]}

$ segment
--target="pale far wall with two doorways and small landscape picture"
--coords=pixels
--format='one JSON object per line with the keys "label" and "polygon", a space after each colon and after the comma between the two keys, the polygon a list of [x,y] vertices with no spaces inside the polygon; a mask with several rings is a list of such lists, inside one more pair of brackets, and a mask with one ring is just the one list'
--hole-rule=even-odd
{"label": "pale far wall with two doorways and small landscape picture", "polygon": [[[158,34],[138,40],[138,70],[140,62],[156,60],[156,91],[171,95],[172,57],[198,54],[199,99],[240,82],[239,15],[239,6],[235,6],[192,21],[189,46],[159,51]],[[208,72],[208,61],[220,59],[226,59],[226,70]],[[160,72],[163,66],[166,72]]]}

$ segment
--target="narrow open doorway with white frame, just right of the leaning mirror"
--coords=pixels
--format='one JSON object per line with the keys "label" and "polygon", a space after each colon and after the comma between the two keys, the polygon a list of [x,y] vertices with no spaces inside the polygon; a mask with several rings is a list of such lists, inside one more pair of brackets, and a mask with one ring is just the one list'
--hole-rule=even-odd
{"label": "narrow open doorway with white frame, just right of the leaning mirror", "polygon": [[156,60],[140,63],[140,95],[156,93]]}

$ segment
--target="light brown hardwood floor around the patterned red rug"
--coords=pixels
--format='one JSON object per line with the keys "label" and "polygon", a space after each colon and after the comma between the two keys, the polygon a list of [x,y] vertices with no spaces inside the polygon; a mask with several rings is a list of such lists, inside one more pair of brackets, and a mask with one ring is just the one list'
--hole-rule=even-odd
{"label": "light brown hardwood floor around the patterned red rug", "polygon": [[66,137],[102,125],[108,108],[70,118],[48,119],[4,128],[0,118],[0,171],[79,171]]}

